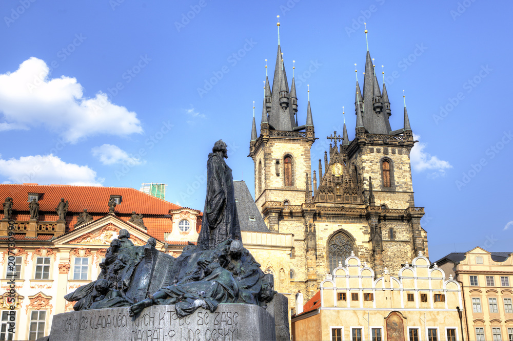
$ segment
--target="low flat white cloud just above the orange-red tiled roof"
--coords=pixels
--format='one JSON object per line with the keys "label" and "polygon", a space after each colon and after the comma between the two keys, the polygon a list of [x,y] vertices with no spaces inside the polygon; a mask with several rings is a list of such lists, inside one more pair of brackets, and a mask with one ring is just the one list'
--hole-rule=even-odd
{"label": "low flat white cloud just above the orange-red tiled roof", "polygon": [[66,163],[52,154],[0,159],[0,174],[12,183],[102,186],[103,182],[88,166]]}

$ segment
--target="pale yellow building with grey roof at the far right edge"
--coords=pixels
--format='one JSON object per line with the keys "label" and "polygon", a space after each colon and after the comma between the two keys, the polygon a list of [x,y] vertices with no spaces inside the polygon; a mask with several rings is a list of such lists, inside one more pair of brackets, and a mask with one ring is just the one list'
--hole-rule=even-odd
{"label": "pale yellow building with grey roof at the far right edge", "polygon": [[476,247],[437,261],[461,284],[467,340],[513,340],[513,257]]}

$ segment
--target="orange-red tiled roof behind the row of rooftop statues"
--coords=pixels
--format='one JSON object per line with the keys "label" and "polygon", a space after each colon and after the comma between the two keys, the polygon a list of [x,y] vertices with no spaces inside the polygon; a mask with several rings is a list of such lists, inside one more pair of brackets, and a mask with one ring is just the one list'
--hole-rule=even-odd
{"label": "orange-red tiled roof behind the row of rooftop statues", "polygon": [[[71,185],[34,185],[34,184],[0,184],[0,201],[6,197],[13,199],[15,211],[29,210],[28,194],[42,194],[39,200],[40,211],[54,212],[61,198],[69,201],[69,212],[107,212],[111,195],[122,196],[122,201],[115,211],[120,214],[131,214],[136,211],[143,215],[166,215],[170,209],[181,208],[168,201],[158,199],[140,190],[126,187],[94,187]],[[0,202],[0,203],[2,203]],[[3,218],[3,212],[2,212]]]}

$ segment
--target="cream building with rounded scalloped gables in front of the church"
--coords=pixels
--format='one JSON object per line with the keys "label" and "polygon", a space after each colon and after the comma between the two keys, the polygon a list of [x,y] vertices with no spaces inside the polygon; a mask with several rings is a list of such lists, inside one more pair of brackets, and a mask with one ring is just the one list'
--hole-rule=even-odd
{"label": "cream building with rounded scalloped gables in front of the church", "polygon": [[445,276],[422,253],[397,277],[386,269],[376,276],[351,255],[292,316],[293,341],[461,340],[461,288]]}

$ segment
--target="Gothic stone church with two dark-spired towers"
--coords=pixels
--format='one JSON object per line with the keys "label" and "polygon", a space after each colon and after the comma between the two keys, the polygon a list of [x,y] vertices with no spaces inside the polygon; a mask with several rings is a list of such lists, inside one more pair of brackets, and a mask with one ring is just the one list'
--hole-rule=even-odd
{"label": "Gothic stone church with two dark-spired towers", "polygon": [[[288,292],[310,299],[326,273],[351,252],[377,276],[397,275],[419,252],[426,256],[423,207],[415,206],[406,105],[404,126],[392,131],[385,84],[379,86],[367,51],[363,92],[356,83],[355,135],[334,132],[324,160],[310,159],[315,137],[308,99],[298,124],[295,81],[290,88],[278,45],[272,87],[266,79],[260,134],[253,118],[249,156],[254,162],[255,202],[270,231],[292,233]],[[313,163],[312,163],[313,162]],[[315,169],[311,171],[311,169]],[[267,269],[275,273],[272,261]],[[293,306],[293,302],[292,306]]]}

